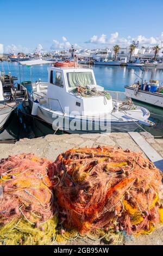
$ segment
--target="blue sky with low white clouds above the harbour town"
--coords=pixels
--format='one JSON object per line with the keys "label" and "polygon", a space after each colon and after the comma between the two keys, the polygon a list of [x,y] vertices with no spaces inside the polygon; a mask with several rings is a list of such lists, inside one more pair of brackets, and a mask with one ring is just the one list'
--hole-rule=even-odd
{"label": "blue sky with low white clouds above the harbour town", "polygon": [[162,0],[0,0],[0,53],[163,41]]}

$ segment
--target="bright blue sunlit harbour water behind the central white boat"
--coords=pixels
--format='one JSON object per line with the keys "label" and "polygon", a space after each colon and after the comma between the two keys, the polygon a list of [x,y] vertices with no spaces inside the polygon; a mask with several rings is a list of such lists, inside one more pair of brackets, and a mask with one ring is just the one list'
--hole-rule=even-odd
{"label": "bright blue sunlit harbour water behind the central white boat", "polygon": [[[8,72],[8,65],[3,62],[3,66],[6,72]],[[142,76],[142,71],[139,67],[128,67],[128,66],[90,66],[95,72],[95,77],[97,84],[103,86],[107,90],[115,90],[119,92],[124,92],[124,86],[133,83],[135,78]],[[0,70],[2,67],[0,66]],[[10,62],[9,70],[13,76],[20,78],[20,73],[18,69],[18,63]],[[136,74],[136,75],[135,75]],[[32,80],[35,82],[39,78],[42,82],[47,82],[47,65],[38,65],[32,67]],[[144,79],[150,80],[163,80],[163,70],[147,70],[144,75]],[[30,80],[30,68],[24,67],[24,80]],[[138,80],[140,80],[138,78]],[[21,67],[21,81],[23,81],[23,70]]]}

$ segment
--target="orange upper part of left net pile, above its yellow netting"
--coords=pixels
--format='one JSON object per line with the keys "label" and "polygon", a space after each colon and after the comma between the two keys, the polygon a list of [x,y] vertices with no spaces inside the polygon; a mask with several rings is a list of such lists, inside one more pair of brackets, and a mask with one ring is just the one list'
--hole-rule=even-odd
{"label": "orange upper part of left net pile, above its yellow netting", "polygon": [[49,161],[33,154],[2,159],[0,185],[3,197],[0,204],[0,223],[15,216],[24,216],[32,224],[51,218],[53,200],[51,181],[47,176]]}

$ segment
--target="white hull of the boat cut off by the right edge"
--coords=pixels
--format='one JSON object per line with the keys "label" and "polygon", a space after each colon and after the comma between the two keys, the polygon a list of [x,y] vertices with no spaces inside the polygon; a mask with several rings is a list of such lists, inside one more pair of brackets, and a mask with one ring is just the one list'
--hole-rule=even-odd
{"label": "white hull of the boat cut off by the right edge", "polygon": [[138,100],[155,107],[163,108],[163,94],[151,93],[147,91],[138,90],[138,93],[135,95],[134,88],[129,86],[125,87],[126,96],[130,97],[133,100]]}

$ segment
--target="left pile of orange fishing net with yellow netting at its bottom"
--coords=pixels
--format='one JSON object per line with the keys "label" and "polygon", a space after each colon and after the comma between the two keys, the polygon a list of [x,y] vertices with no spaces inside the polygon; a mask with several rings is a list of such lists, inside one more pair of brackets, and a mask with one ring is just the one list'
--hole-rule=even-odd
{"label": "left pile of orange fishing net with yellow netting at its bottom", "polygon": [[57,208],[46,159],[33,154],[0,162],[0,243],[45,245],[56,236]]}

